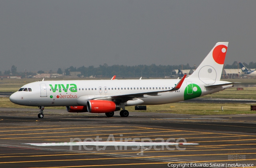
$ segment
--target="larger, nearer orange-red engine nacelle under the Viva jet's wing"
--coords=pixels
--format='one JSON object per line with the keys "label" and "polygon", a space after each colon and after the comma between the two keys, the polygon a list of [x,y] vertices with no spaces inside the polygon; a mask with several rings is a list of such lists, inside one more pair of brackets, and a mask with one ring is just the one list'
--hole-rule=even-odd
{"label": "larger, nearer orange-red engine nacelle under the Viva jet's wing", "polygon": [[109,113],[112,111],[119,111],[121,109],[120,103],[108,100],[89,100],[87,101],[87,110],[90,113]]}

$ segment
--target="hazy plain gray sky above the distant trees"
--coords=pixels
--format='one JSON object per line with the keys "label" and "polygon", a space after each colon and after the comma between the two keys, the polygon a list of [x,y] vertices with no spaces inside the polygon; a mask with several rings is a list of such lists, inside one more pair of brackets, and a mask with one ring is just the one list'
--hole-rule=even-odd
{"label": "hazy plain gray sky above the distant trees", "polygon": [[0,71],[256,62],[256,1],[0,0]]}

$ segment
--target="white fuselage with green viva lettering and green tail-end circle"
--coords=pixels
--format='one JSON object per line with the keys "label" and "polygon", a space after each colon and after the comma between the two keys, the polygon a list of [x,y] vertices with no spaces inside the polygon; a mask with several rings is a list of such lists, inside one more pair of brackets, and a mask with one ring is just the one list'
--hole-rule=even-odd
{"label": "white fuselage with green viva lettering and green tail-end circle", "polygon": [[[26,106],[79,106],[86,105],[91,99],[111,96],[111,100],[115,101],[115,96],[142,94],[143,96],[137,97],[142,101],[126,99],[124,102],[129,100],[130,103],[125,105],[157,105],[192,99],[232,87],[231,84],[217,88],[205,88],[207,81],[192,81],[185,78],[179,90],[167,91],[172,89],[177,82],[179,79],[38,81],[22,86],[23,89],[15,92],[10,100]],[[214,84],[218,83],[221,84],[224,81],[215,81]],[[148,92],[159,91],[161,93],[148,94]]]}

